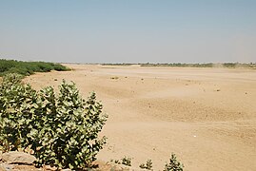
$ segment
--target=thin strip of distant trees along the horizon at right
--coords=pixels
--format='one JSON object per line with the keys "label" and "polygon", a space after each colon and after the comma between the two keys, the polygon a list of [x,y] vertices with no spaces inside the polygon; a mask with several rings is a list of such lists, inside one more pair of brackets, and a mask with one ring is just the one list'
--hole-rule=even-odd
{"label": "thin strip of distant trees along the horizon at right", "polygon": [[140,66],[172,66],[172,67],[249,67],[255,68],[256,64],[242,64],[242,63],[205,63],[205,64],[184,64],[184,63],[172,63],[172,64],[141,64]]}

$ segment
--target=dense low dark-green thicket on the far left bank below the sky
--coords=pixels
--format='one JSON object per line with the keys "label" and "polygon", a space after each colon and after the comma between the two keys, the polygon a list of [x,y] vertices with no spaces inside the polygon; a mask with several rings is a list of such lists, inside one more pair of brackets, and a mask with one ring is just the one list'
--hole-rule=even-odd
{"label": "dense low dark-green thicket on the far left bank below the sky", "polygon": [[46,62],[23,62],[15,60],[0,59],[0,76],[7,73],[18,73],[23,76],[28,76],[34,72],[49,72],[50,70],[70,70],[66,66]]}

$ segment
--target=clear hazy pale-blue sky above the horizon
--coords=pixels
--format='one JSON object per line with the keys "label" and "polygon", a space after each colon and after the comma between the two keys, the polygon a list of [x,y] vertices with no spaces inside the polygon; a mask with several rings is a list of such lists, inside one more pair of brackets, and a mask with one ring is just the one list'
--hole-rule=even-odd
{"label": "clear hazy pale-blue sky above the horizon", "polygon": [[0,58],[256,63],[256,0],[0,0]]}

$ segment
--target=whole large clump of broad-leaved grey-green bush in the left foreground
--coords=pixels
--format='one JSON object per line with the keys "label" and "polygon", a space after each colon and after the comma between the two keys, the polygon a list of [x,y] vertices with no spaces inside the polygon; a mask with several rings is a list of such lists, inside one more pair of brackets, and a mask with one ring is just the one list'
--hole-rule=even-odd
{"label": "whole large clump of broad-leaved grey-green bush in the left foreground", "polygon": [[8,74],[0,85],[0,145],[3,151],[31,151],[36,164],[83,168],[96,160],[106,142],[98,133],[107,121],[95,93],[83,100],[65,81],[35,91],[20,76]]}

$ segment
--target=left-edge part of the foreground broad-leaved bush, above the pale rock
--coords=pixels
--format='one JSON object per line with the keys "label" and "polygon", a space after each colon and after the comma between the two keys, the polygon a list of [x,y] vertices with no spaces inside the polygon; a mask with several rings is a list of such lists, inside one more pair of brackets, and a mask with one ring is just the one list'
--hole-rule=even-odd
{"label": "left-edge part of the foreground broad-leaved bush, above the pale rock", "polygon": [[23,85],[21,78],[8,74],[0,85],[0,143],[4,152],[26,148],[26,136],[32,130],[36,91]]}

